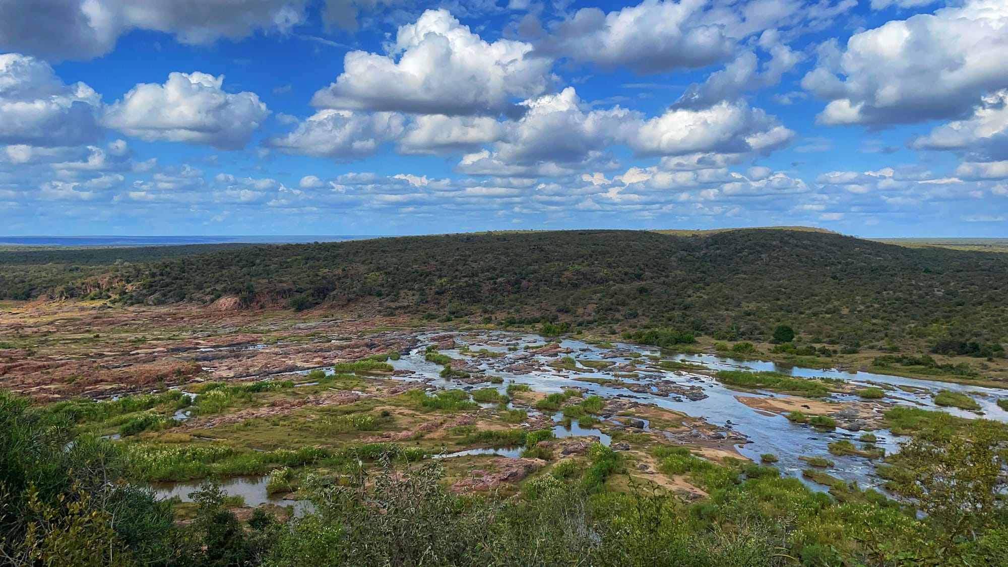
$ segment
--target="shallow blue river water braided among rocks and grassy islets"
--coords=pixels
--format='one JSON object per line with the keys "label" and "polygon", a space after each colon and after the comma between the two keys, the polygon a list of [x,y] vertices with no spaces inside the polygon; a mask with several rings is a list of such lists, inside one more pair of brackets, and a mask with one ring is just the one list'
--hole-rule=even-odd
{"label": "shallow blue river water braided among rocks and grassy islets", "polygon": [[[523,347],[533,344],[542,344],[543,339],[537,335],[521,333],[509,333],[502,331],[486,331],[474,333],[453,333],[457,344],[468,345],[472,350],[487,349],[502,356],[496,358],[480,357],[472,360],[473,364],[479,367],[480,371],[488,376],[501,376],[504,383],[491,384],[480,383],[476,385],[467,384],[454,378],[442,378],[438,373],[442,366],[424,360],[424,347],[431,342],[432,337],[445,333],[424,333],[418,335],[419,346],[408,353],[402,353],[399,360],[390,361],[397,370],[407,370],[409,375],[401,376],[398,379],[404,381],[414,381],[417,387],[437,387],[437,388],[465,388],[474,389],[480,387],[496,387],[504,393],[509,382],[525,383],[533,389],[542,392],[560,391],[565,387],[587,388],[587,394],[598,394],[603,398],[618,398],[632,400],[641,404],[654,404],[660,408],[682,412],[694,418],[700,418],[708,423],[731,429],[741,433],[748,439],[749,443],[739,445],[739,452],[755,461],[763,453],[773,453],[778,462],[774,464],[780,469],[782,474],[790,474],[801,478],[801,470],[808,468],[808,465],[799,456],[827,456],[835,463],[834,467],[825,469],[829,474],[843,478],[848,481],[857,481],[862,486],[878,486],[881,480],[875,475],[875,463],[867,458],[857,456],[837,456],[829,454],[827,444],[840,439],[849,439],[857,442],[860,432],[854,433],[837,429],[836,431],[824,432],[806,425],[793,424],[783,416],[768,415],[764,412],[757,412],[738,400],[737,396],[769,396],[772,392],[742,392],[730,389],[713,377],[698,374],[684,370],[656,369],[648,366],[646,370],[639,371],[637,377],[629,377],[621,374],[614,376],[613,371],[597,370],[578,364],[577,370],[555,369],[547,365],[550,361],[557,360],[556,356],[530,355]],[[573,349],[574,352],[565,356],[572,356],[577,360],[606,360],[613,365],[629,363],[635,356],[632,353],[639,353],[641,356],[659,356],[657,348],[643,345],[613,343],[614,349],[600,348],[580,340],[564,339],[561,346]],[[511,347],[509,350],[508,347]],[[459,347],[461,348],[461,346]],[[442,349],[442,354],[447,354],[453,358],[469,358],[465,353],[454,349]],[[618,355],[623,354],[623,355]],[[563,356],[563,355],[561,355]],[[1008,412],[997,406],[996,401],[1000,398],[1008,396],[1008,390],[1001,388],[990,388],[960,384],[955,382],[942,382],[937,380],[922,380],[915,378],[904,378],[885,374],[873,374],[869,372],[847,372],[837,369],[813,369],[798,366],[780,365],[773,362],[759,360],[736,360],[713,354],[675,354],[663,356],[662,359],[680,360],[706,366],[711,370],[721,369],[744,369],[744,370],[776,370],[786,374],[800,377],[831,377],[843,378],[845,380],[864,385],[871,385],[870,382],[891,384],[893,386],[909,386],[913,391],[902,389],[885,390],[885,398],[881,402],[906,406],[916,406],[930,410],[940,410],[964,418],[975,418],[977,414],[958,410],[955,408],[938,408],[931,401],[930,392],[939,389],[950,389],[961,391],[975,399],[983,409],[984,417],[992,420],[1008,422]],[[526,363],[524,369],[527,372],[513,373],[507,367],[518,363]],[[530,365],[527,363],[531,363]],[[643,366],[643,365],[642,365]],[[643,368],[642,368],[643,369]],[[644,388],[645,391],[630,391],[621,387],[610,387],[599,385],[590,381],[577,380],[577,377],[595,377],[619,379],[623,382],[650,385],[656,380],[668,380],[685,386],[699,386],[707,398],[699,401],[690,401],[680,395],[660,395],[654,386]],[[650,389],[649,393],[647,389]],[[847,402],[857,400],[857,396],[850,394],[833,394],[831,400]],[[529,414],[535,414],[529,411]],[[560,415],[551,416],[555,422],[559,421]],[[564,436],[588,436],[595,435],[601,441],[609,445],[611,438],[594,428],[582,428],[577,423],[570,427],[564,427],[557,423],[553,428],[557,437]],[[898,450],[900,438],[893,435],[888,430],[875,430],[872,432],[876,438],[876,445],[884,448],[886,452]],[[497,454],[503,456],[518,456],[519,449],[491,449],[478,448],[456,453],[446,453],[436,455],[435,458],[451,458],[461,455],[481,455]],[[804,479],[803,479],[804,480]],[[823,489],[823,486],[805,480],[810,486]],[[178,495],[183,500],[188,500],[188,492],[195,490],[199,483],[172,483],[156,486],[160,495],[169,497]],[[263,502],[273,502],[285,505],[294,503],[295,506],[303,507],[305,502],[291,502],[282,500],[279,496],[269,496],[265,491],[265,477],[241,477],[227,480],[223,487],[229,494],[241,494],[245,497],[246,504],[256,505]]]}

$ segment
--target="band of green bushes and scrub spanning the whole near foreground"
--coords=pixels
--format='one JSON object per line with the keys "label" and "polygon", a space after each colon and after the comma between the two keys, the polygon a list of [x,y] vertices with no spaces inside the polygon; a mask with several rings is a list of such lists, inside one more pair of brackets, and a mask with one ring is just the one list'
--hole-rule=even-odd
{"label": "band of green bushes and scrub spanning the whole near foreground", "polygon": [[[924,417],[924,414],[917,417]],[[950,417],[952,418],[952,417]],[[514,497],[450,490],[436,459],[394,444],[334,452],[273,452],[268,487],[297,488],[311,511],[276,520],[257,509],[240,521],[214,482],[193,493],[192,522],[134,483],[150,460],[175,466],[223,462],[223,445],[143,455],[80,435],[67,414],[0,392],[0,562],[12,565],[547,566],[668,565],[807,567],[1004,565],[1008,515],[1005,428],[985,420],[928,422],[884,467],[897,500],[813,470],[830,492],[776,468],[701,458],[655,446],[663,474],[709,496],[686,502],[626,486],[621,454],[599,443],[529,478]],[[921,425],[921,424],[917,424]],[[953,427],[947,427],[947,426]],[[550,430],[474,432],[539,448]],[[504,439],[504,437],[508,437]],[[486,439],[485,439],[486,437]],[[211,447],[215,444],[205,445]],[[861,454],[853,443],[831,450]],[[867,451],[866,448],[864,451]],[[160,451],[160,450],[158,450]],[[223,451],[223,452],[222,452]],[[170,455],[169,455],[170,453]],[[184,454],[183,454],[184,453]],[[282,456],[281,456],[282,453]],[[764,460],[772,461],[767,455]],[[321,474],[293,467],[324,464]],[[810,464],[829,465],[828,459]],[[232,471],[232,474],[237,473]]]}

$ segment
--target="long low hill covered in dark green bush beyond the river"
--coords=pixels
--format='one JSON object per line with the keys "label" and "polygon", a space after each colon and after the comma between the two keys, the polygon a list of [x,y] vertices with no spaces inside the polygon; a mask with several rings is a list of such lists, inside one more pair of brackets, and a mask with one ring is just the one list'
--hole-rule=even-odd
{"label": "long low hill covered in dark green bush beyond the river", "polygon": [[236,296],[249,308],[368,305],[417,317],[558,319],[724,338],[766,338],[783,322],[806,340],[849,345],[1008,335],[1008,255],[781,229],[256,246],[114,266],[59,293],[147,304]]}

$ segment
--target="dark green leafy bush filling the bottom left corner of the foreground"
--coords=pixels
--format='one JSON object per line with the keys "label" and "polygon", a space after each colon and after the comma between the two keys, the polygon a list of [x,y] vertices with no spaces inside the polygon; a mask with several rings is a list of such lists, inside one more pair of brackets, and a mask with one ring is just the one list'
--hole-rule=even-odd
{"label": "dark green leafy bush filling the bottom left corner of the foreground", "polygon": [[164,564],[176,552],[168,508],[124,481],[125,455],[81,434],[68,414],[0,390],[0,562]]}

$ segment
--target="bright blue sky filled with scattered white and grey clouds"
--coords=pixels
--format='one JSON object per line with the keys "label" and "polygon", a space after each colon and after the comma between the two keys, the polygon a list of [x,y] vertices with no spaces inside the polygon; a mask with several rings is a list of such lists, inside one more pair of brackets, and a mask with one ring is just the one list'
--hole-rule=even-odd
{"label": "bright blue sky filled with scattered white and grey clouds", "polygon": [[1008,236],[1008,0],[0,0],[0,234]]}

